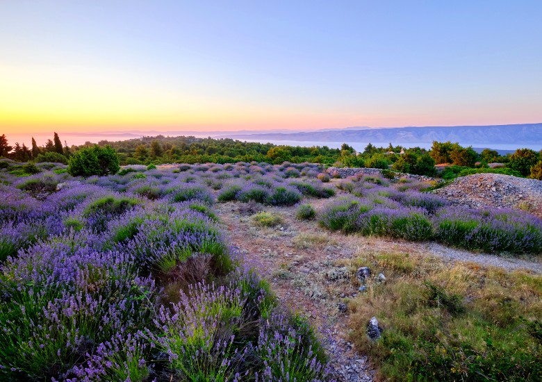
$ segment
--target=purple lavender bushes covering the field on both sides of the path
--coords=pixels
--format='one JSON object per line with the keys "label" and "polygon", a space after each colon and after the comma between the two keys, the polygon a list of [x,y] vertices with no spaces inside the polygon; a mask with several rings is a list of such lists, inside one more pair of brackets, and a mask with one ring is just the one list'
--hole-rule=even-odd
{"label": "purple lavender bushes covering the field on both sides of the path", "polygon": [[[448,206],[427,183],[321,165],[133,166],[72,177],[0,172],[0,379],[331,381],[320,334],[234,249],[213,205],[334,198],[313,224],[539,254],[542,221]],[[153,168],[154,167],[154,168]],[[19,175],[19,176],[18,176]],[[337,188],[350,193],[334,197]]]}

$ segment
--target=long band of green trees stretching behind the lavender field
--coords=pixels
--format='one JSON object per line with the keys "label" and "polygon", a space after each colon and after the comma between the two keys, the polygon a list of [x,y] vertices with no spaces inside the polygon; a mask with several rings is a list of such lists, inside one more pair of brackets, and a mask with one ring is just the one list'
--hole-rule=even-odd
{"label": "long band of green trees stretching behind the lavender field", "polygon": [[[32,138],[32,147],[25,144],[8,146],[5,135],[0,137],[0,156],[21,162],[65,163],[73,153],[93,147],[91,142],[71,148],[61,143],[57,133],[44,147],[38,147]],[[515,153],[500,156],[498,151],[484,149],[477,153],[472,147],[462,147],[459,143],[434,141],[431,149],[413,147],[402,150],[400,146],[375,147],[368,144],[362,152],[356,152],[344,143],[340,149],[327,146],[300,147],[275,145],[271,143],[242,142],[230,138],[196,138],[194,136],[143,137],[140,139],[108,142],[101,140],[99,147],[112,147],[119,158],[120,165],[159,165],[163,163],[322,163],[347,167],[392,168],[400,172],[434,176],[435,165],[447,164],[457,168],[487,167],[488,163],[502,163],[521,176],[542,179],[541,152],[532,149],[518,149]]]}

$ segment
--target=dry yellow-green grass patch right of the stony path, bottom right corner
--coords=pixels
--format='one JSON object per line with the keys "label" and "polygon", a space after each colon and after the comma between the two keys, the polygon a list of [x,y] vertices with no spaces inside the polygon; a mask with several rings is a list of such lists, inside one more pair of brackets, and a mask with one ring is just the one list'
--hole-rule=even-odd
{"label": "dry yellow-green grass patch right of the stony path, bottom right corner", "polygon": [[[389,381],[536,381],[542,375],[542,276],[436,258],[363,254],[385,283],[350,302],[350,337]],[[367,324],[384,329],[372,341]]]}

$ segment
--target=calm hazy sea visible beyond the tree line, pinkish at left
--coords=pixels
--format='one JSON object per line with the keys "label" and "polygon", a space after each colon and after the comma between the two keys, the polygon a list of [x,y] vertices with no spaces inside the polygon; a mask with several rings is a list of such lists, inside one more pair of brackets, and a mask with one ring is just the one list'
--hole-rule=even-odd
{"label": "calm hazy sea visible beyond the tree line, pinkish at left", "polygon": [[[0,132],[1,135],[1,132]],[[148,133],[139,133],[139,134],[132,134],[132,135],[121,135],[121,134],[115,134],[115,133],[58,133],[60,136],[60,140],[64,143],[64,141],[67,141],[68,146],[72,146],[72,144],[84,144],[85,142],[92,142],[97,143],[101,140],[108,140],[110,142],[118,141],[118,140],[130,140],[134,138],[141,138],[144,135],[150,135]],[[156,133],[153,133],[153,135],[156,135]],[[190,135],[194,135],[191,133]],[[26,146],[31,147],[31,140],[32,136],[35,138],[36,142],[38,142],[38,145],[43,145],[45,142],[47,142],[48,139],[53,139],[53,134],[49,133],[35,133],[35,134],[7,134],[6,137],[8,138],[9,144],[13,145],[15,142],[19,142],[19,144],[26,144]],[[202,137],[207,137],[208,133],[201,133]],[[302,147],[313,147],[313,146],[327,146],[331,149],[338,149],[343,142],[318,142],[318,141],[297,141],[297,140],[246,140],[247,142],[261,142],[261,143],[272,143],[272,144],[279,144],[279,145],[288,145],[288,146],[302,146]],[[350,144],[350,146],[354,147],[356,151],[363,151],[367,144],[369,142],[347,142]],[[371,142],[377,147],[388,147],[389,142]],[[394,146],[398,145],[404,145],[405,148],[409,147],[423,147],[425,149],[429,149],[432,145],[430,142],[419,142],[419,143],[404,143],[404,142],[391,142]],[[534,150],[541,150],[542,144],[484,144],[484,143],[469,143],[469,142],[459,142],[461,145],[468,147],[490,147],[491,149],[496,150],[510,150],[515,151],[516,149],[520,149],[523,147],[527,147],[529,149]]]}

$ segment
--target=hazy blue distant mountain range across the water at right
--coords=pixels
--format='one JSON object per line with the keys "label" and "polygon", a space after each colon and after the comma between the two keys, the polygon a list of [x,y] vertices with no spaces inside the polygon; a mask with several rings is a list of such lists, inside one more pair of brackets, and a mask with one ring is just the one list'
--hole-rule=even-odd
{"label": "hazy blue distant mountain range across the water at right", "polygon": [[392,142],[398,144],[459,142],[481,144],[542,144],[542,123],[490,126],[420,126],[338,128],[297,133],[229,133],[217,138],[312,142]]}

